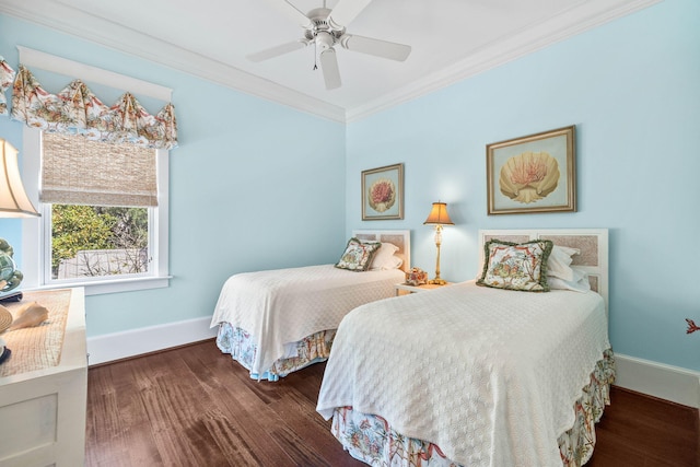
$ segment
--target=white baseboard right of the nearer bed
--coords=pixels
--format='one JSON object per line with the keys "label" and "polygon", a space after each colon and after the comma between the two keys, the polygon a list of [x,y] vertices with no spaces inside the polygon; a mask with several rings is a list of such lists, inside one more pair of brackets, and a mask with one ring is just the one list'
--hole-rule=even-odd
{"label": "white baseboard right of the nearer bed", "polygon": [[700,372],[615,354],[616,386],[700,408]]}

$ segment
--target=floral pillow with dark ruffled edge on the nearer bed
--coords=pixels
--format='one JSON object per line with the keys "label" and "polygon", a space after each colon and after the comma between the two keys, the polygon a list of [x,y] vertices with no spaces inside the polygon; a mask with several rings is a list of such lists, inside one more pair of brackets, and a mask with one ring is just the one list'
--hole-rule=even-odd
{"label": "floral pillow with dark ruffled edge on the nearer bed", "polygon": [[486,243],[481,278],[478,285],[527,292],[549,292],[547,258],[551,253],[549,240],[511,243],[491,240]]}

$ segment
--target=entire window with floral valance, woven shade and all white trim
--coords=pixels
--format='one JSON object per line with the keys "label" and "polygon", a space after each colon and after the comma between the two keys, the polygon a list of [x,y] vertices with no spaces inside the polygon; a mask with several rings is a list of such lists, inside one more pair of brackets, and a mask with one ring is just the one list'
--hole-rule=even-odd
{"label": "entire window with floral valance, woven shade and all white trim", "polygon": [[[26,122],[23,180],[42,214],[23,224],[23,284],[83,285],[86,294],[167,287],[168,150],[177,147],[172,90],[26,47],[18,49],[15,87],[21,83],[21,91],[13,92],[11,118]],[[63,83],[62,77],[73,72],[80,77],[54,95],[26,67],[36,67],[49,82]],[[82,80],[120,97],[104,105]],[[137,95],[153,106],[166,105],[153,116]],[[50,131],[43,133],[42,128]],[[50,178],[43,164],[51,164],[56,153],[63,159],[55,172],[49,171]],[[86,175],[78,177],[82,177],[78,185],[73,185],[75,168],[66,162],[74,153],[89,154],[93,163]],[[127,153],[129,164],[121,164],[119,157]],[[142,163],[150,164],[152,176],[144,175]],[[125,173],[122,165],[131,170]]]}

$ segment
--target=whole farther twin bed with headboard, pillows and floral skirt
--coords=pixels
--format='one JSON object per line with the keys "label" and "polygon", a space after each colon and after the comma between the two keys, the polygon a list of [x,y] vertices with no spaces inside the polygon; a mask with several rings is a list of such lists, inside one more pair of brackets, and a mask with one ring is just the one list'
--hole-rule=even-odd
{"label": "whole farther twin bed with headboard, pillows and floral skirt", "polygon": [[[380,243],[365,265],[345,258],[359,240]],[[245,272],[224,283],[211,326],[217,345],[255,380],[279,381],[328,358],[342,317],[364,303],[394,296],[410,266],[410,232],[352,232],[337,265]],[[338,252],[341,253],[341,252]]]}

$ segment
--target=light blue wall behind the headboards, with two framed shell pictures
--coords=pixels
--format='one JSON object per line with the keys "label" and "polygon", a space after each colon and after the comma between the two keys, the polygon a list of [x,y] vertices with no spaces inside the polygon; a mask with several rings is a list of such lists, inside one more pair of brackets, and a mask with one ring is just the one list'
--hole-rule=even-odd
{"label": "light blue wall behind the headboards, with two framed shell pictures", "polygon": [[[576,126],[575,213],[486,213],[486,145]],[[348,230],[411,229],[434,271],[431,202],[447,202],[441,276],[477,275],[479,229],[608,227],[610,338],[627,355],[700,370],[700,2],[666,0],[350,124]],[[361,222],[360,172],[406,164],[404,221]],[[562,311],[563,312],[563,311]]]}

